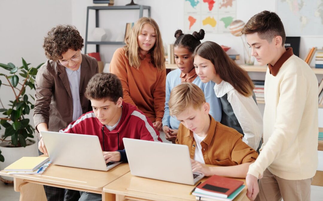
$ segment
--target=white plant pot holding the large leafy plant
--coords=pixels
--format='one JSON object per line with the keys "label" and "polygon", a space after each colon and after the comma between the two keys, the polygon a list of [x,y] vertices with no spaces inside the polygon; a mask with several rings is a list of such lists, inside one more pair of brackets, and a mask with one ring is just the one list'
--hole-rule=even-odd
{"label": "white plant pot holding the large leafy plant", "polygon": [[[38,146],[37,143],[27,141],[26,147],[7,147],[9,142],[2,142],[0,143],[0,150],[2,151],[2,155],[5,157],[4,162],[0,162],[0,170],[5,169],[11,163],[15,162],[16,160],[20,159],[23,156],[38,156]],[[13,181],[13,177],[4,177],[1,178]]]}

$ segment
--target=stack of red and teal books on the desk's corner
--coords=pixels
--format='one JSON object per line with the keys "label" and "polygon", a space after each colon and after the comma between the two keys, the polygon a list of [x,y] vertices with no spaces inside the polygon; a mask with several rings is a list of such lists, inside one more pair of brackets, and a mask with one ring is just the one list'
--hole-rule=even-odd
{"label": "stack of red and teal books on the desk's corner", "polygon": [[196,200],[233,200],[245,188],[243,181],[213,175],[198,185],[192,195]]}

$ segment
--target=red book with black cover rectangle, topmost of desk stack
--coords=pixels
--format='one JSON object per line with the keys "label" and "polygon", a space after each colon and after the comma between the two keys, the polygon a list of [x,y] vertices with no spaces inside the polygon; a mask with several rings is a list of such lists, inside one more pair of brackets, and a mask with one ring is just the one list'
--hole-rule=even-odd
{"label": "red book with black cover rectangle, topmost of desk stack", "polygon": [[198,185],[195,192],[226,198],[243,184],[243,181],[213,175]]}

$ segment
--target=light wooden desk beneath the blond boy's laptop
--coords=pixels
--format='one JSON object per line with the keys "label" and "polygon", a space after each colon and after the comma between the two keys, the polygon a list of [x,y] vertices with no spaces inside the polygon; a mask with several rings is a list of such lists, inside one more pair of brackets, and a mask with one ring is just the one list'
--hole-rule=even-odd
{"label": "light wooden desk beneath the blond boy's laptop", "polygon": [[[203,178],[204,181],[206,178]],[[239,179],[245,182],[245,179]],[[196,200],[191,185],[136,177],[130,172],[103,187],[102,201],[130,200]],[[247,188],[234,201],[248,201]]]}

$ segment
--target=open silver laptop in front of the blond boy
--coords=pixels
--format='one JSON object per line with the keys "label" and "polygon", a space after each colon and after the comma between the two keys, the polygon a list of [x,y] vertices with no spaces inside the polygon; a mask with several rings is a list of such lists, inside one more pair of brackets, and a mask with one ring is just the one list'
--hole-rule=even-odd
{"label": "open silver laptop in front of the blond boy", "polygon": [[188,146],[123,138],[132,175],[194,185],[204,177],[193,173]]}

